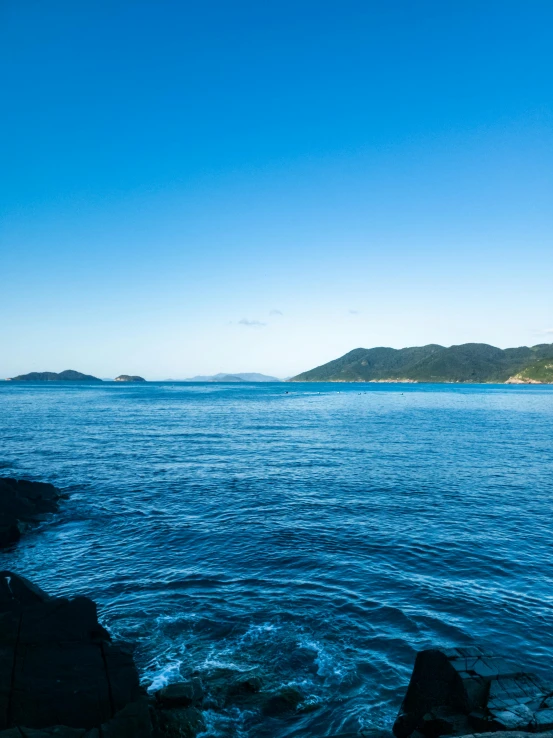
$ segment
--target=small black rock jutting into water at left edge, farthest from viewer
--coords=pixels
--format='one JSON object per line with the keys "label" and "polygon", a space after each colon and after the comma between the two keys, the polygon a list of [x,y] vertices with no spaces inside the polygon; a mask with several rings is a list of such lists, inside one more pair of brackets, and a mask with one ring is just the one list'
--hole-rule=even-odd
{"label": "small black rock jutting into water at left edge, farthest from viewer", "polygon": [[62,497],[53,484],[0,477],[0,548],[18,541],[44,514],[56,512]]}

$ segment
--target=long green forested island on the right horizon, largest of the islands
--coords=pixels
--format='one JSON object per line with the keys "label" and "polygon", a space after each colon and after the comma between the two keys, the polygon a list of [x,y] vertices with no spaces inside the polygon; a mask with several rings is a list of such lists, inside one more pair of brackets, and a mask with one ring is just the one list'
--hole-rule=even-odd
{"label": "long green forested island on the right horizon, largest of the islands", "polygon": [[508,349],[486,343],[357,348],[288,381],[553,384],[553,344]]}

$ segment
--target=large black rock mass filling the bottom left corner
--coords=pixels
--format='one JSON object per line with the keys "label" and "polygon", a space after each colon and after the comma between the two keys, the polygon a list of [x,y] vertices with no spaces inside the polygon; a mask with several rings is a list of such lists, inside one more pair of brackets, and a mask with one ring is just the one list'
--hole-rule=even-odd
{"label": "large black rock mass filling the bottom left corner", "polygon": [[111,643],[95,603],[0,572],[0,737],[151,734],[132,655]]}

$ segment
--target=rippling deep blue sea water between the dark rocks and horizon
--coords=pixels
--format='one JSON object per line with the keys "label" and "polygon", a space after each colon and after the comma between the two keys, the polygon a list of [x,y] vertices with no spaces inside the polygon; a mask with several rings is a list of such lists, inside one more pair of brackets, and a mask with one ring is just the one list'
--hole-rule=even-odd
{"label": "rippling deep blue sea water between the dark rocks and horizon", "polygon": [[[287,394],[288,393],[288,394]],[[421,648],[553,658],[553,388],[0,384],[0,473],[70,492],[3,566],[87,594],[143,682],[261,670],[389,727]]]}

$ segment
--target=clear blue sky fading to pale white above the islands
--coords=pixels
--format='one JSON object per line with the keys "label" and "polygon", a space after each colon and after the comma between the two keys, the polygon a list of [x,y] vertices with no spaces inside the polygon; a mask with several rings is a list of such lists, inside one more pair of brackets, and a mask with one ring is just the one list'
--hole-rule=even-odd
{"label": "clear blue sky fading to pale white above the islands", "polygon": [[553,341],[551,0],[0,0],[0,376]]}

